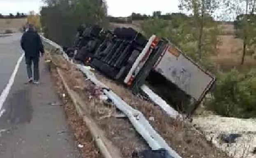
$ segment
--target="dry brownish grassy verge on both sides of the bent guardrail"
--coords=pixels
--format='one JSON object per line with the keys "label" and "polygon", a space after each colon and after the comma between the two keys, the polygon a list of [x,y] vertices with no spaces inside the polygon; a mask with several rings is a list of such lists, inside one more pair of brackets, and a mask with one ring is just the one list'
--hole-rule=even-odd
{"label": "dry brownish grassy verge on both sides of the bent guardrail", "polygon": [[[84,80],[83,74],[68,66],[69,64],[61,55],[53,56],[53,61],[61,64],[62,69],[64,68],[64,77],[67,79],[69,86],[79,94],[83,101],[88,103],[84,105],[86,114],[92,117],[105,132],[106,137],[116,147],[120,148],[122,156],[130,158],[133,151],[149,148],[131,126],[128,119],[116,118],[117,111],[115,107],[100,101],[99,93],[101,92],[99,92],[98,87],[95,87],[89,80]],[[227,158],[223,152],[213,147],[211,142],[208,142],[203,135],[194,131],[190,124],[169,118],[159,107],[134,96],[129,89],[118,85],[100,73],[95,73],[101,82],[113,89],[126,103],[141,111],[148,118],[153,128],[180,156],[184,158]]]}

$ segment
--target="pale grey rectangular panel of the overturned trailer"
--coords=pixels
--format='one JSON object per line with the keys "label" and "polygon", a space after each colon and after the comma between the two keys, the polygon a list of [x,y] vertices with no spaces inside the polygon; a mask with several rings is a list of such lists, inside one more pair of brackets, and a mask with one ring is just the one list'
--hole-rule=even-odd
{"label": "pale grey rectangular panel of the overturned trailer", "polygon": [[169,44],[154,69],[197,101],[204,98],[215,81],[210,73],[186,57],[173,44]]}

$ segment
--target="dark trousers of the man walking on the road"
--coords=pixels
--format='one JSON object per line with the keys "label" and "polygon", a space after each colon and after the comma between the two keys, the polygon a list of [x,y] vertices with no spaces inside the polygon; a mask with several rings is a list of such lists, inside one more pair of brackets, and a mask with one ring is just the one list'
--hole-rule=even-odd
{"label": "dark trousers of the man walking on the road", "polygon": [[28,78],[32,78],[32,63],[33,63],[33,72],[34,80],[39,80],[39,57],[25,57],[27,64]]}

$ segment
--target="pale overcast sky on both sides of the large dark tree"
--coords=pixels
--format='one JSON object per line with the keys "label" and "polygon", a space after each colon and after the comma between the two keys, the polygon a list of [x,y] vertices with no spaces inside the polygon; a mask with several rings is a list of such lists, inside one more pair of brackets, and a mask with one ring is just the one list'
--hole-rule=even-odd
{"label": "pale overcast sky on both sides of the large dark tree", "polygon": [[[153,11],[162,13],[178,12],[179,0],[106,0],[108,14],[111,16],[129,16],[132,12],[151,15]],[[0,13],[16,14],[28,13],[29,11],[39,12],[44,5],[42,0],[0,0]]]}

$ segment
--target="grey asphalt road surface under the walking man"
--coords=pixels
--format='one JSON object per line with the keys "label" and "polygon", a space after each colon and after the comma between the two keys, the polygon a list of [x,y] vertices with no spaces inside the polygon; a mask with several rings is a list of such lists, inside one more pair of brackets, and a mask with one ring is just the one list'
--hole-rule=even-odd
{"label": "grey asphalt road surface under the walking man", "polygon": [[[21,34],[0,36],[0,94],[23,53]],[[55,94],[46,64],[40,62],[41,84],[26,84],[25,60],[0,110],[0,158],[80,158],[73,133]]]}

